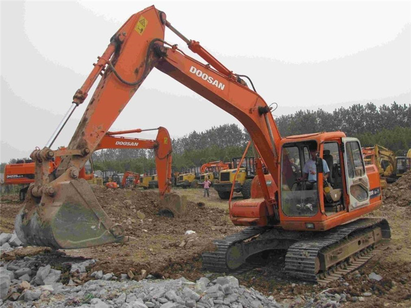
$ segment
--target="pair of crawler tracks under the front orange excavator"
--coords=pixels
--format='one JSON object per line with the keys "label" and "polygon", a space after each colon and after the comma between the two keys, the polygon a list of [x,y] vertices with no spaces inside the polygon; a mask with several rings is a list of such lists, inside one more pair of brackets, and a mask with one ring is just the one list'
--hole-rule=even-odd
{"label": "pair of crawler tracks under the front orange excavator", "polygon": [[[247,263],[237,266],[241,258],[232,261],[232,251],[238,254],[248,252],[249,255],[242,258],[245,260],[256,251],[264,251],[261,245],[269,245],[266,249],[288,248],[284,270],[291,277],[324,284],[364,264],[373,256],[377,242],[389,238],[388,222],[382,218],[358,219],[321,233],[248,227],[239,233],[214,240],[216,251],[203,253],[203,266],[212,272],[238,274],[252,266]],[[233,249],[236,245],[242,246]],[[353,249],[353,252],[345,256],[345,249]]]}

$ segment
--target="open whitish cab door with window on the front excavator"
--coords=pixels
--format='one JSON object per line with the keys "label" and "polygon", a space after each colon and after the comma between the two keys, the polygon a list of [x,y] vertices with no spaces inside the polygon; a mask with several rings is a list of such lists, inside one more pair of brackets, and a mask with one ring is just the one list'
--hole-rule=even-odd
{"label": "open whitish cab door with window on the front excavator", "polygon": [[349,211],[369,205],[369,181],[365,172],[360,141],[356,138],[343,138],[344,167]]}

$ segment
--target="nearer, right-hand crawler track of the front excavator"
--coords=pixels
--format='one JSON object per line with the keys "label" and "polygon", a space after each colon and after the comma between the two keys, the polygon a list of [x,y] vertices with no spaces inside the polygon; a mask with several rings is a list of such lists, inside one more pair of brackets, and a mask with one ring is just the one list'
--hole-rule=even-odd
{"label": "nearer, right-hand crawler track of the front excavator", "polygon": [[[390,238],[390,229],[388,222],[382,218],[363,218],[335,227],[329,232],[324,234],[318,234],[313,239],[298,241],[288,248],[285,260],[285,272],[291,277],[317,281],[317,279],[325,278],[332,274],[330,268],[323,268],[322,273],[319,273],[319,254],[321,251],[332,245],[345,241],[356,240],[356,237],[361,237],[367,230],[373,228],[381,228],[382,239]],[[361,250],[367,249],[370,246],[375,245],[375,242],[371,242]],[[356,255],[355,252],[353,255]],[[347,258],[352,256],[347,256]],[[340,260],[339,263],[344,260]],[[317,263],[317,264],[316,264]],[[365,263],[365,262],[364,262]],[[334,266],[334,265],[333,265]]]}

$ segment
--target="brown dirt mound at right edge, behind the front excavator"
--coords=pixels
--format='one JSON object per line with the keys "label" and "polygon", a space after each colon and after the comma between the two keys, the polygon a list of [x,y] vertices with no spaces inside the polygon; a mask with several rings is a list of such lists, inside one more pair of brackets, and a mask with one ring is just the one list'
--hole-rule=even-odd
{"label": "brown dirt mound at right edge, behind the front excavator", "polygon": [[395,206],[411,205],[411,171],[405,172],[395,183],[388,185],[383,200],[384,204]]}

